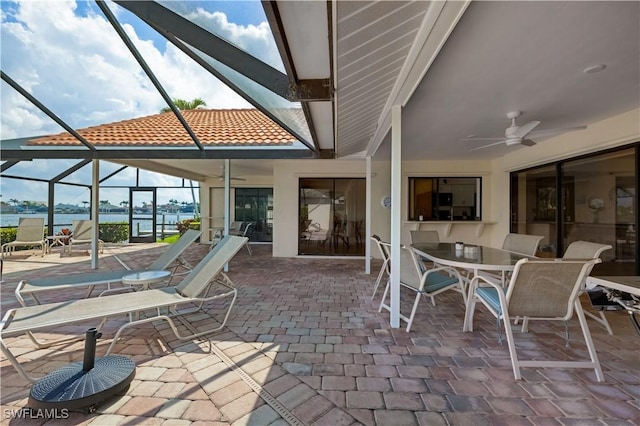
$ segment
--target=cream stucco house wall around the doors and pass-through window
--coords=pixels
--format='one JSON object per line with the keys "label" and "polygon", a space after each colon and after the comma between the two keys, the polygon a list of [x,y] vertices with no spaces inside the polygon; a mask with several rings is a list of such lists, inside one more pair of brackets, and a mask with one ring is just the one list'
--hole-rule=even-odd
{"label": "cream stucco house wall around the doors and pass-through window", "polygon": [[[407,218],[407,181],[409,176],[480,176],[482,177],[482,221],[454,224],[445,235],[446,224],[420,224],[420,229],[436,229],[442,241],[500,246],[509,232],[509,173],[547,164],[577,155],[640,141],[640,109],[595,123],[583,131],[560,135],[533,147],[513,149],[493,161],[406,161],[402,169],[402,242],[409,242],[409,231],[416,223]],[[371,231],[383,240],[390,239],[390,211],[380,200],[390,194],[389,161],[372,161]],[[302,177],[364,178],[365,160],[276,160],[273,176],[258,176],[234,181],[233,187],[273,187],[274,233],[273,256],[293,257],[298,252],[298,182]],[[222,217],[222,182],[211,179],[202,184],[202,215]],[[231,199],[233,203],[233,190]],[[231,205],[233,212],[233,204]],[[233,220],[233,217],[231,218]],[[371,253],[379,257],[372,246]]]}

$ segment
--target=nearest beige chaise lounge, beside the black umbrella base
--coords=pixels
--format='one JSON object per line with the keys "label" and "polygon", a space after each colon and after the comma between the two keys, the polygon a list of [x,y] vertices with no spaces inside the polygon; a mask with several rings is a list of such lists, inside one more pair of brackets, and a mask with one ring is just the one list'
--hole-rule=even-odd
{"label": "nearest beige chaise lounge, beside the black umbrella base", "polygon": [[[165,320],[180,340],[216,332],[225,326],[237,297],[236,288],[222,269],[246,242],[243,237],[224,237],[177,286],[10,309],[0,322],[0,349],[21,377],[33,381],[35,379],[27,374],[9,350],[6,338],[27,334],[39,348],[46,348],[69,338],[42,343],[34,336],[35,332],[59,330],[61,326],[87,322],[90,326],[99,322],[100,328],[109,317],[126,315],[128,322],[118,328],[107,349],[108,355],[125,329],[142,323]],[[222,320],[203,321],[202,308],[214,300],[228,300]],[[188,321],[187,314],[196,311],[200,312],[196,315],[197,324],[188,323],[185,327],[183,323]],[[140,315],[143,312],[145,315]],[[173,321],[176,316],[180,317],[179,325]],[[181,334],[185,329],[190,334]]]}

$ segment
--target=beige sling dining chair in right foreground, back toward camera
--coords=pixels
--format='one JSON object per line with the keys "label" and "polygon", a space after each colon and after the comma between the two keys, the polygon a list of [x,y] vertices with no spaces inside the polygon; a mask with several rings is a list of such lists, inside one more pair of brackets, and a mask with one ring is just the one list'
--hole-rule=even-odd
{"label": "beige sling dining chair in right foreground, back toward camera", "polygon": [[[521,367],[593,368],[599,382],[604,381],[600,361],[591,339],[589,326],[579,300],[584,280],[600,259],[590,260],[529,260],[522,259],[516,267],[505,289],[492,280],[476,276],[471,280],[469,298],[464,319],[464,331],[473,331],[473,314],[477,302],[481,302],[496,317],[499,332],[504,323],[509,346],[513,374],[520,379]],[[559,361],[548,359],[520,360],[516,352],[511,319],[524,317],[528,320],[565,321],[576,313],[582,328],[590,361]],[[568,332],[566,335],[568,344]],[[502,343],[502,335],[499,335]],[[528,345],[527,347],[530,347]],[[535,351],[536,353],[539,351]],[[556,351],[549,351],[553,353]],[[546,352],[545,352],[546,353]],[[546,355],[544,358],[547,358]]]}

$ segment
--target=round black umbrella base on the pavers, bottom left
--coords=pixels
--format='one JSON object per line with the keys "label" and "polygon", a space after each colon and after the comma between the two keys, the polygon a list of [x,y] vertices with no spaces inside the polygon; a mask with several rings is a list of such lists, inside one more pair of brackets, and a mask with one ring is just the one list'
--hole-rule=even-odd
{"label": "round black umbrella base on the pavers, bottom left", "polygon": [[135,363],[126,356],[96,358],[88,371],[83,371],[82,362],[74,362],[38,380],[31,387],[27,406],[92,413],[97,405],[126,389],[135,373]]}

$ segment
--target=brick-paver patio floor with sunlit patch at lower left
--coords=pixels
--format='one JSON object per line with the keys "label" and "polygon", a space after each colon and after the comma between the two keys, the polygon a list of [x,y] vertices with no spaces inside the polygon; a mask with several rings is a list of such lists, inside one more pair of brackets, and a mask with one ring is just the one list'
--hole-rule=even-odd
{"label": "brick-paver patio floor with sunlit patch at lower left", "polygon": [[[100,266],[121,269],[117,255],[144,267],[161,250],[158,244],[107,245]],[[194,245],[186,258],[195,264],[207,250]],[[239,298],[227,330],[194,342],[175,340],[164,323],[129,330],[114,353],[135,360],[136,377],[125,395],[96,413],[70,413],[62,422],[11,419],[26,405],[30,385],[3,358],[2,423],[619,425],[640,419],[640,339],[626,313],[607,314],[614,336],[589,321],[605,383],[591,370],[559,369],[524,369],[524,379],[516,381],[493,317],[480,307],[476,331],[462,332],[458,293],[438,296],[435,307],[422,301],[406,333],[391,329],[388,314],[377,312],[382,289],[370,300],[379,261],[365,275],[362,260],[274,258],[269,245],[252,251],[242,250],[230,263]],[[16,254],[4,262],[2,311],[17,306],[13,291],[22,278],[89,269],[88,256]],[[60,291],[47,300],[72,294]],[[215,316],[215,306],[211,311]],[[98,356],[120,322],[107,322]],[[51,337],[86,328],[64,327]],[[516,333],[516,339],[529,354],[584,356],[575,318],[569,329],[568,349],[559,324],[534,322],[531,333]],[[7,343],[34,374],[81,360],[84,344],[37,350],[26,336]]]}

